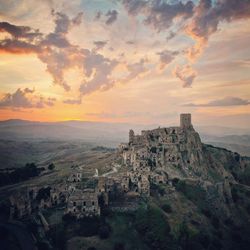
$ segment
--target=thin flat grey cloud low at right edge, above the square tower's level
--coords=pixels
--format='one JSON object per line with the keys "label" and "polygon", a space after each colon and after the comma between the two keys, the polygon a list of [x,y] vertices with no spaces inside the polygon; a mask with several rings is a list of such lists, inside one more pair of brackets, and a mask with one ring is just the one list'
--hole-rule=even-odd
{"label": "thin flat grey cloud low at right edge, above the square tower's level", "polygon": [[245,106],[249,105],[250,101],[246,99],[241,99],[238,97],[225,97],[223,99],[218,99],[218,100],[213,100],[208,103],[200,103],[200,104],[195,104],[195,103],[187,103],[184,104],[183,106],[187,107],[226,107],[226,106]]}

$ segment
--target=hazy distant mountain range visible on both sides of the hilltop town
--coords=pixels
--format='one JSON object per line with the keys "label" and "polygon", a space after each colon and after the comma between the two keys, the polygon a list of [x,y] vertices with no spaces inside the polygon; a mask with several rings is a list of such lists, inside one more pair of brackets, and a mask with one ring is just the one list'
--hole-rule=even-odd
{"label": "hazy distant mountain range visible on both sides of the hilltop town", "polygon": [[[116,147],[128,140],[128,131],[139,133],[143,129],[158,127],[156,124],[105,123],[89,121],[34,122],[27,120],[0,121],[2,140],[82,140],[109,147]],[[224,147],[250,156],[250,129],[197,126],[204,143]]]}

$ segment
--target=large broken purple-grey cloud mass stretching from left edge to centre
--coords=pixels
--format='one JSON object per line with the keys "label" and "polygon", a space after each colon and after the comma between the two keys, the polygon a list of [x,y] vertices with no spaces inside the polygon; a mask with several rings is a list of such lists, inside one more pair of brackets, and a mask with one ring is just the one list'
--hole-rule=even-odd
{"label": "large broken purple-grey cloud mass stretching from left edge to centre", "polygon": [[[49,34],[41,34],[37,31],[39,35],[34,39],[30,39],[30,36],[26,35],[34,33],[29,27],[3,25],[4,32],[8,29],[9,32],[18,35],[12,36],[11,39],[3,38],[3,40],[0,40],[0,52],[35,53],[46,64],[47,72],[52,76],[53,83],[62,86],[66,91],[70,91],[71,86],[65,80],[64,75],[69,69],[77,69],[81,74],[79,87],[81,96],[98,90],[108,90],[116,83],[124,80],[124,78],[114,79],[112,76],[115,67],[122,63],[117,59],[109,59],[98,53],[98,50],[103,48],[108,41],[95,41],[96,48],[93,50],[81,48],[69,41],[67,35],[72,28],[81,24],[82,12],[73,18],[69,18],[61,12],[52,11],[51,14],[55,22],[54,31]],[[109,24],[115,21],[117,14],[116,11],[108,12]],[[24,31],[21,32],[20,30]],[[21,36],[22,38],[20,38]],[[144,62],[127,64],[126,67],[128,70],[126,82],[145,71]],[[77,102],[66,100],[68,104]]]}

